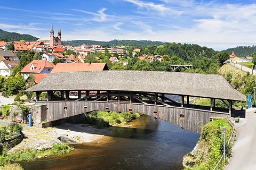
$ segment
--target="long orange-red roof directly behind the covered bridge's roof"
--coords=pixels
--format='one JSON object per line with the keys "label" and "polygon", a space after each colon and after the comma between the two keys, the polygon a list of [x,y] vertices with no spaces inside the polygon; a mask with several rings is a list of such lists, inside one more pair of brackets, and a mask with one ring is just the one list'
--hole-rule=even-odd
{"label": "long orange-red roof directly behind the covered bridge's roof", "polygon": [[108,70],[106,63],[58,63],[51,73]]}

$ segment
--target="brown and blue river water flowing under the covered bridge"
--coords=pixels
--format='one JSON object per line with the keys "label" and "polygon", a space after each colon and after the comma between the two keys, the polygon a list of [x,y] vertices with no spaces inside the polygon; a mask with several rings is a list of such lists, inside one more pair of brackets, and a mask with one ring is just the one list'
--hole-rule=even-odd
{"label": "brown and blue river water flowing under the covered bridge", "polygon": [[199,134],[143,115],[130,128],[111,127],[101,142],[74,145],[66,155],[21,163],[24,169],[182,169]]}

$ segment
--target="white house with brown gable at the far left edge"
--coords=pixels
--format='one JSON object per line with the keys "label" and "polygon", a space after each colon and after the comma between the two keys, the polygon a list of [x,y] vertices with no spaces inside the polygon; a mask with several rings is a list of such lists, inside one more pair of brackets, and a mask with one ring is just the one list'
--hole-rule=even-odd
{"label": "white house with brown gable at the far left edge", "polygon": [[9,77],[12,74],[14,67],[18,64],[19,61],[2,60],[0,62],[0,75]]}

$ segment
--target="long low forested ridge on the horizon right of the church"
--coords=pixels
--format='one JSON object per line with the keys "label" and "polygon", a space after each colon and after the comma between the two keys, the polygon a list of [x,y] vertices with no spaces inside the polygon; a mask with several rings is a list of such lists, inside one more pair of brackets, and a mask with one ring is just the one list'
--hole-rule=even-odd
{"label": "long low forested ridge on the horizon right of the church", "polygon": [[82,44],[86,45],[101,45],[103,48],[105,47],[113,47],[113,46],[149,46],[149,45],[162,45],[165,44],[161,41],[149,41],[149,40],[111,40],[111,41],[93,41],[93,40],[71,40],[71,41],[62,41],[64,45],[71,46],[81,46]]}

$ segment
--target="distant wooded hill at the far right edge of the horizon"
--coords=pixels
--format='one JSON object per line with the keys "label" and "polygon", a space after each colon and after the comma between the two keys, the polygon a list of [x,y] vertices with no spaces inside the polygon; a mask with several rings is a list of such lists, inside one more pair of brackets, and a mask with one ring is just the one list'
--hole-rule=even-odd
{"label": "distant wooded hill at the far right edge of the horizon", "polygon": [[228,48],[226,50],[222,50],[221,52],[228,52],[229,54],[234,52],[237,57],[255,56],[256,46],[238,46],[235,48]]}

